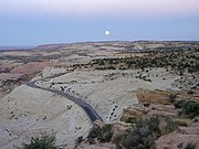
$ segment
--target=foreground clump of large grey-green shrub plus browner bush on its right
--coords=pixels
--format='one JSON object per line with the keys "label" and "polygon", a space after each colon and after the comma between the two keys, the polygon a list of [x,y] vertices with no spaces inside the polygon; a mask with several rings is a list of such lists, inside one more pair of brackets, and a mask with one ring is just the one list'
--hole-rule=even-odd
{"label": "foreground clump of large grey-green shrub plus browner bush on its right", "polygon": [[134,128],[114,136],[113,142],[116,143],[117,149],[155,149],[155,140],[176,128],[170,118],[139,119]]}

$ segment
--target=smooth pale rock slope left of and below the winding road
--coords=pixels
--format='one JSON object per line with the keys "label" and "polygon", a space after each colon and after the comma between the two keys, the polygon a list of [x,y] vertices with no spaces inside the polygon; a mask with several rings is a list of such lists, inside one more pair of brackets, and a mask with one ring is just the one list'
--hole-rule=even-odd
{"label": "smooth pale rock slope left of and below the winding road", "polygon": [[0,100],[0,149],[13,149],[42,132],[56,132],[56,145],[74,147],[92,127],[84,110],[50,92],[22,85]]}

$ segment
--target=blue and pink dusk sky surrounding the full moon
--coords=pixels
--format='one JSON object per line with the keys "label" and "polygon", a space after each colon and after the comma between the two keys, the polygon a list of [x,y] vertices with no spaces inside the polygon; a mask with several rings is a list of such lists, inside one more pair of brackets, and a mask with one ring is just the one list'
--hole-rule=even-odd
{"label": "blue and pink dusk sky surrounding the full moon", "polygon": [[0,45],[138,40],[199,41],[199,0],[0,0]]}

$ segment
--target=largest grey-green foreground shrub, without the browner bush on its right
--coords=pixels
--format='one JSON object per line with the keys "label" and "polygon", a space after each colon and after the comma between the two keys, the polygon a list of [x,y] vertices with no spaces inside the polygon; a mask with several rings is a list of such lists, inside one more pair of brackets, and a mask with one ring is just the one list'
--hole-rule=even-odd
{"label": "largest grey-green foreground shrub, without the browner bush on its right", "polygon": [[155,149],[155,139],[159,136],[159,119],[139,119],[135,128],[119,136],[117,148]]}

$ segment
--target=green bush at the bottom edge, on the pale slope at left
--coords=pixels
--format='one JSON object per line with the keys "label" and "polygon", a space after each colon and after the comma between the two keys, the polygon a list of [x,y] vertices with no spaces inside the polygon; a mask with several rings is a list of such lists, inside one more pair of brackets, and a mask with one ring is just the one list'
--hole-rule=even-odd
{"label": "green bush at the bottom edge, on the pale slope at left", "polygon": [[19,149],[59,149],[55,146],[55,135],[44,135],[42,137],[31,138],[30,143],[23,143]]}

